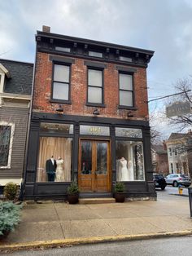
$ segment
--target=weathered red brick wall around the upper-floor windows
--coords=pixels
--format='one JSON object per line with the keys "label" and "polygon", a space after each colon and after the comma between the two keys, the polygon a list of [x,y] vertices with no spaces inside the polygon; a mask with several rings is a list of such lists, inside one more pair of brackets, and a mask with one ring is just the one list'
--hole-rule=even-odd
{"label": "weathered red brick wall around the upper-floor windows", "polygon": [[[73,58],[74,59],[74,58]],[[86,106],[87,94],[87,66],[85,59],[76,58],[71,68],[71,101],[72,104],[63,104],[64,113],[82,116],[92,116],[95,107]],[[148,119],[146,68],[137,67],[133,75],[133,88],[136,111],[133,117],[127,117],[128,109],[119,109],[118,70],[116,64],[105,63],[104,68],[104,104],[106,108],[98,108],[100,117],[115,117],[137,120]],[[124,65],[131,67],[131,65]],[[48,53],[37,53],[33,111],[55,113],[58,104],[50,103],[53,64]]]}

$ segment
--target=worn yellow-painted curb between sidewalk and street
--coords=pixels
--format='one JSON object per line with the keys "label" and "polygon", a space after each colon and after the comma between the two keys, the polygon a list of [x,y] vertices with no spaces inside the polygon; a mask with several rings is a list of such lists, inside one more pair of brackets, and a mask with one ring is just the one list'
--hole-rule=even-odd
{"label": "worn yellow-painted curb between sidewalk and street", "polygon": [[163,237],[177,237],[177,236],[190,236],[192,235],[192,230],[184,230],[178,232],[158,232],[158,233],[148,233],[148,234],[137,234],[137,235],[119,235],[119,236],[94,236],[94,237],[83,237],[83,238],[69,238],[62,240],[53,241],[34,241],[27,243],[15,243],[0,245],[0,252],[24,250],[24,249],[48,249],[56,247],[68,247],[72,245],[89,245],[98,244],[105,242],[115,242],[115,241],[136,241],[136,240],[147,240]]}

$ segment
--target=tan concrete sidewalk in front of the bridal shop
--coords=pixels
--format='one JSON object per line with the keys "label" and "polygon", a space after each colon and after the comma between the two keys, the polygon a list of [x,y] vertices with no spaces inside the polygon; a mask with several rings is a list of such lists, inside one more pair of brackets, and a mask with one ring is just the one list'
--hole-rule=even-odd
{"label": "tan concrete sidewalk in front of the bridal shop", "polygon": [[[98,205],[64,202],[24,205],[22,221],[3,245],[39,241],[102,241],[103,237],[146,237],[158,234],[190,234],[189,198],[170,196],[158,201],[129,201]],[[42,243],[43,245],[43,243]],[[30,247],[30,246],[29,246]],[[32,246],[33,247],[33,246]]]}

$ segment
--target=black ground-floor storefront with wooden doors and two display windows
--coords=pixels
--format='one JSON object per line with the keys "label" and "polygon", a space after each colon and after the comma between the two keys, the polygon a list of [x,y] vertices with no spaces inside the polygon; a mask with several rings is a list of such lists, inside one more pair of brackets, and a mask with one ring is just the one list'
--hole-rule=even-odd
{"label": "black ground-floor storefront with wooden doors and two display windows", "polygon": [[[28,198],[63,198],[72,180],[81,194],[112,194],[123,181],[127,197],[153,197],[150,130],[147,121],[120,121],[98,117],[71,117],[34,113],[28,154],[25,195]],[[63,180],[48,181],[46,160],[64,159]],[[129,176],[120,173],[127,159]]]}

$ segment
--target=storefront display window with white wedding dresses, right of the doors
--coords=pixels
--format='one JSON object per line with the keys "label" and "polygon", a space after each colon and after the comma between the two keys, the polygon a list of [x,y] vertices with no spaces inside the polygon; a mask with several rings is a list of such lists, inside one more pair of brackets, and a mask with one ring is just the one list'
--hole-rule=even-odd
{"label": "storefront display window with white wedding dresses, right of the doors", "polygon": [[142,142],[116,141],[117,181],[145,180]]}

